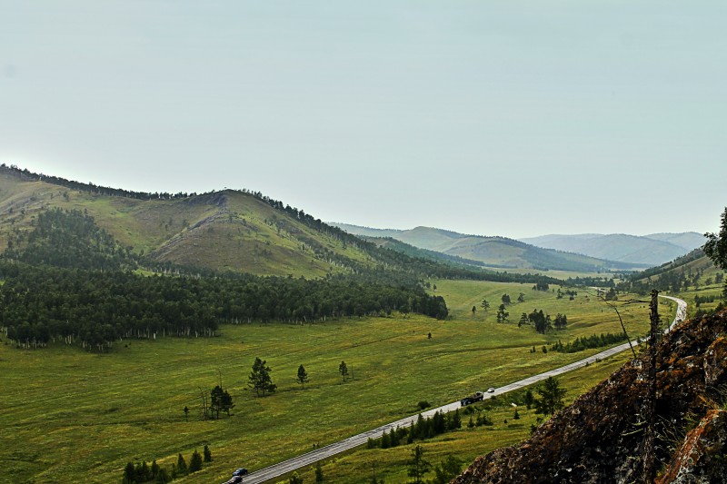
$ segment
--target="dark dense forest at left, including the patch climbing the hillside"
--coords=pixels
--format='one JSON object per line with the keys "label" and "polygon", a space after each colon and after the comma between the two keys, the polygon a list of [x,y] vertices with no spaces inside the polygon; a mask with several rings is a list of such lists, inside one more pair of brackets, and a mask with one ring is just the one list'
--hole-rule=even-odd
{"label": "dark dense forest at left, including the patch climbing the hillside", "polygon": [[220,323],[314,322],[392,311],[447,316],[441,296],[395,272],[308,281],[200,277],[177,267],[174,275],[144,276],[132,271],[144,261],[85,213],[45,211],[33,225],[14,234],[0,262],[0,326],[23,347],[62,340],[105,351],[124,338],[212,336]]}

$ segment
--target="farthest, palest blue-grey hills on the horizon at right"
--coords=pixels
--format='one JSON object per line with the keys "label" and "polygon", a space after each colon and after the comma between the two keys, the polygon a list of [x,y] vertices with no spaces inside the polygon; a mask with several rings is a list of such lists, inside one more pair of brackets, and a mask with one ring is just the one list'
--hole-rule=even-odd
{"label": "farthest, palest blue-grey hills on the horizon at right", "polygon": [[671,262],[687,252],[702,247],[704,236],[697,232],[652,233],[581,233],[576,235],[542,235],[520,239],[538,247],[582,253],[599,259],[659,265]]}

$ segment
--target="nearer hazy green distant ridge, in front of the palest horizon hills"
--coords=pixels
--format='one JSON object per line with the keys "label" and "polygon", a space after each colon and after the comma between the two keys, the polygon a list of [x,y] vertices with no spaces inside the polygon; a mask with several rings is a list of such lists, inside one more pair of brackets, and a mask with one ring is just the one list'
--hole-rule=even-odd
{"label": "nearer hazy green distant ridge, in front of the palest horizon hills", "polygon": [[536,247],[533,244],[506,237],[466,235],[432,227],[393,230],[372,229],[337,222],[329,224],[371,242],[378,241],[378,244],[390,246],[394,250],[396,250],[396,244],[393,244],[392,240],[498,269],[598,272],[613,269],[642,269],[648,266],[643,263],[611,261],[573,252]]}

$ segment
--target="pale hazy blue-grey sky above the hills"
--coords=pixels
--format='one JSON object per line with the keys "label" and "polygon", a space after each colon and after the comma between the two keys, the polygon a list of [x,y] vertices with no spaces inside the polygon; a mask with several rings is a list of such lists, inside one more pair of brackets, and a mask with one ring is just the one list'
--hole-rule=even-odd
{"label": "pale hazy blue-grey sky above the hills", "polygon": [[727,2],[0,0],[0,163],[324,221],[716,231]]}

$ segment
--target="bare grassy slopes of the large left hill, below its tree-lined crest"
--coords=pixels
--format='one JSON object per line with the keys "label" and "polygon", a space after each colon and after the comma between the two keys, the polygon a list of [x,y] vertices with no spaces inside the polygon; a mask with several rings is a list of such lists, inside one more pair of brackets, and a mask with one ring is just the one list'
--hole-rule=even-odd
{"label": "bare grassy slopes of the large left hill, below its tree-lined crest", "polygon": [[316,230],[299,212],[275,208],[253,193],[143,200],[69,189],[9,170],[0,170],[0,251],[11,233],[28,232],[38,214],[52,208],[90,215],[124,247],[158,262],[306,277],[374,263],[355,242]]}

